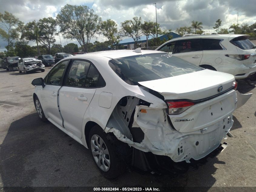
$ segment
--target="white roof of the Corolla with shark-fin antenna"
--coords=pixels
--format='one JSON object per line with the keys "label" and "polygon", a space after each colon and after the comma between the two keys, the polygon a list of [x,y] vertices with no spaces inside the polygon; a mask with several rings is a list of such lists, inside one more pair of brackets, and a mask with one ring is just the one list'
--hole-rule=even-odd
{"label": "white roof of the Corolla with shark-fin antenna", "polygon": [[[86,57],[94,57],[94,56],[102,56],[108,57],[110,59],[117,59],[121,57],[128,57],[128,56],[135,56],[135,55],[143,55],[149,53],[160,53],[159,51],[155,50],[141,50],[141,53],[134,52],[134,50],[112,50],[112,51],[99,51],[99,52],[92,52],[86,54],[75,55],[75,58],[86,58]],[[162,53],[162,52],[161,52]]]}

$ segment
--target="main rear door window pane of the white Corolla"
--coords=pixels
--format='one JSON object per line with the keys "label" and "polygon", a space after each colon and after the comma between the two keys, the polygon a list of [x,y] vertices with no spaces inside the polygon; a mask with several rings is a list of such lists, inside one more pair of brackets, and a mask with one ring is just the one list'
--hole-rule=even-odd
{"label": "main rear door window pane of the white Corolla", "polygon": [[90,63],[87,61],[74,60],[68,73],[67,86],[83,87],[87,77]]}

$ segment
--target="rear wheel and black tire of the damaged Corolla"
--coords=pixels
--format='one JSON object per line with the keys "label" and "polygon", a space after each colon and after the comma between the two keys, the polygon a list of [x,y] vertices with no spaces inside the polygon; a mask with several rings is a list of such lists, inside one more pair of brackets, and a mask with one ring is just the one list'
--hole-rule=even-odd
{"label": "rear wheel and black tire of the damaged Corolla", "polygon": [[89,133],[89,150],[94,162],[103,176],[109,179],[118,177],[126,169],[126,163],[117,148],[126,143],[118,141],[114,135],[105,133],[98,125],[92,127]]}

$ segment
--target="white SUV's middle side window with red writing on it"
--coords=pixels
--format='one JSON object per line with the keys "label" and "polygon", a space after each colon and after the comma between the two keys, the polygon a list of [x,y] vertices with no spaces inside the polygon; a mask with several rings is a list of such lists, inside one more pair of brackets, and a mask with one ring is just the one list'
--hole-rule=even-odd
{"label": "white SUV's middle side window with red writing on it", "polygon": [[184,53],[191,51],[201,51],[201,39],[184,39],[179,40],[172,53]]}

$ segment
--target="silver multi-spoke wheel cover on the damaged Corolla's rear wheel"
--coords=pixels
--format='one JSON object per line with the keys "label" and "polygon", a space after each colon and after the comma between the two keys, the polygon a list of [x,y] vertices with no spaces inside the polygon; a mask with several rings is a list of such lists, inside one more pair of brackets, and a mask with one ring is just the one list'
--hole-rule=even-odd
{"label": "silver multi-spoke wheel cover on the damaged Corolla's rear wheel", "polygon": [[108,148],[103,139],[96,134],[91,137],[91,152],[98,167],[107,172],[110,168]]}

